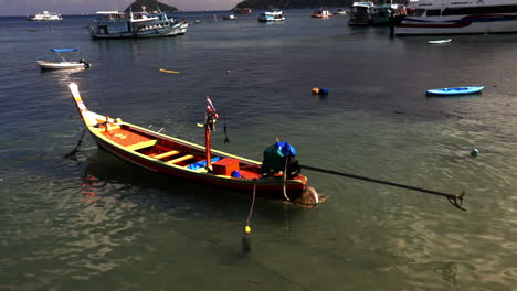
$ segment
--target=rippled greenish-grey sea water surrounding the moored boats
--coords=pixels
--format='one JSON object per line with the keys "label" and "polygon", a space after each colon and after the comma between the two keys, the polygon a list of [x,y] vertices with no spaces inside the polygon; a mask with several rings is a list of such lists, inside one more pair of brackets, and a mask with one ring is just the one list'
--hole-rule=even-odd
{"label": "rippled greenish-grey sea water surrounding the moored boats", "polygon": [[[183,13],[202,21],[183,36],[113,41],[88,37],[91,17],[0,19],[0,290],[515,290],[517,36],[428,45],[309,13],[274,24]],[[42,73],[52,47],[80,47],[93,66]],[[70,82],[94,111],[193,142],[209,95],[231,141],[221,130],[214,148],[262,160],[279,137],[302,164],[466,191],[467,212],[305,171],[329,198],[258,200],[244,254],[250,196],[155,175],[87,136],[64,159],[83,130]],[[424,94],[469,85],[485,89]]]}

